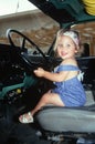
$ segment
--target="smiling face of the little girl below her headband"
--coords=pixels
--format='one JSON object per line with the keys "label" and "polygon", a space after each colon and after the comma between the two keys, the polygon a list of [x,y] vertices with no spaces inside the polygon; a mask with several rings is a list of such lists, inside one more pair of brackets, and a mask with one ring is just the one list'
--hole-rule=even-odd
{"label": "smiling face of the little girl below her headband", "polygon": [[57,48],[56,48],[59,56],[62,59],[73,59],[75,53],[77,52],[75,43],[67,35],[62,35],[57,38]]}

